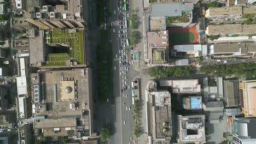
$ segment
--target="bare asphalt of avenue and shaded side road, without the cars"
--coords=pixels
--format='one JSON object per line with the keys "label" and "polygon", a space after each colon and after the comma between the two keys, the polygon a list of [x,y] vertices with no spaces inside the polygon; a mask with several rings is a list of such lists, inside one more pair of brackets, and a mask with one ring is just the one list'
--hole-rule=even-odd
{"label": "bare asphalt of avenue and shaded side road, without the cars", "polygon": [[[107,1],[106,1],[107,2]],[[132,105],[132,95],[131,95],[131,89],[127,89],[124,93],[128,94],[127,98],[123,97],[123,93],[121,93],[121,87],[122,85],[122,77],[120,79],[119,75],[119,70],[120,70],[120,65],[119,65],[119,43],[120,39],[117,40],[118,37],[118,31],[119,31],[119,26],[118,26],[118,3],[120,1],[115,1],[111,0],[110,1],[110,13],[112,14],[111,16],[108,17],[107,19],[107,25],[110,25],[110,23],[113,23],[113,27],[111,28],[111,33],[112,37],[107,38],[107,40],[112,41],[112,57],[113,57],[113,87],[114,87],[114,105],[110,105],[110,96],[109,102],[100,105],[98,104],[97,99],[95,99],[95,104],[94,104],[94,130],[100,130],[101,128],[109,125],[110,130],[111,130],[111,136],[110,139],[107,143],[129,143],[130,137],[133,135],[132,129],[133,129],[133,105]],[[123,0],[122,0],[123,2]],[[97,21],[96,19],[92,19],[91,17],[96,17],[96,3],[95,1],[89,1],[90,4],[90,15],[89,15],[89,33],[90,39],[97,39],[97,37],[100,37],[98,35],[97,31]],[[114,10],[116,11],[116,14],[114,14]],[[85,11],[85,10],[84,10]],[[128,13],[128,11],[126,11]],[[131,16],[131,13],[130,13]],[[129,21],[127,23],[129,25]],[[99,27],[98,27],[99,28]],[[113,32],[113,28],[115,29],[115,32]],[[127,29],[129,37],[130,37],[130,29]],[[106,34],[108,34],[108,31],[106,31]],[[93,70],[93,77],[96,80],[97,79],[97,65],[96,65],[96,44],[94,43],[95,41],[91,41],[91,55],[92,55],[92,65],[91,68]],[[105,49],[109,51],[109,44],[105,46]],[[108,55],[109,53],[106,53]],[[116,58],[116,55],[118,55],[118,58]],[[129,52],[129,58],[131,57],[130,52]],[[114,67],[116,67],[116,70],[114,70]],[[127,67],[127,65],[126,65]],[[128,85],[131,86],[131,79],[132,77],[130,74],[136,74],[136,71],[133,70],[133,68],[130,66],[129,67],[130,71],[127,72],[127,87]],[[138,72],[137,72],[138,73]],[[94,86],[97,86],[97,83],[94,83]],[[97,95],[97,87],[94,88],[94,95]],[[126,103],[126,105],[123,105],[123,102]],[[126,106],[131,106],[131,110],[126,111]],[[126,124],[124,125],[123,122],[126,121]]]}

